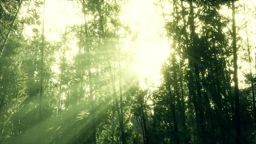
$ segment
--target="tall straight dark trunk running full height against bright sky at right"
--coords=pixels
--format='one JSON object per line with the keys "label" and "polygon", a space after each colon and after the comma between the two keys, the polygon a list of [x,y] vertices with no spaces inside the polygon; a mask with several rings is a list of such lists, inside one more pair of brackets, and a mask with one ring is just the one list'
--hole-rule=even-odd
{"label": "tall straight dark trunk running full height against bright sky at right", "polygon": [[236,18],[235,18],[235,1],[232,0],[232,30],[233,30],[233,59],[234,59],[234,96],[235,96],[235,117],[236,117],[236,144],[240,144],[240,104],[239,104],[239,88],[237,76],[237,49],[236,49]]}

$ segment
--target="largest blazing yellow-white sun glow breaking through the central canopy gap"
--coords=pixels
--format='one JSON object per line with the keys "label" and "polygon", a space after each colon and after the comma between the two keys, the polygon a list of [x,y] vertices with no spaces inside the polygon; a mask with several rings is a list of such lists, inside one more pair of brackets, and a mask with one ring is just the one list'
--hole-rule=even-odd
{"label": "largest blazing yellow-white sun glow breaking through the central canopy gap", "polygon": [[141,88],[160,84],[161,65],[170,53],[167,38],[160,37],[164,21],[154,10],[154,2],[131,0],[121,16],[121,20],[129,23],[131,29],[138,31],[138,39],[134,43],[138,61],[132,66],[139,75]]}

